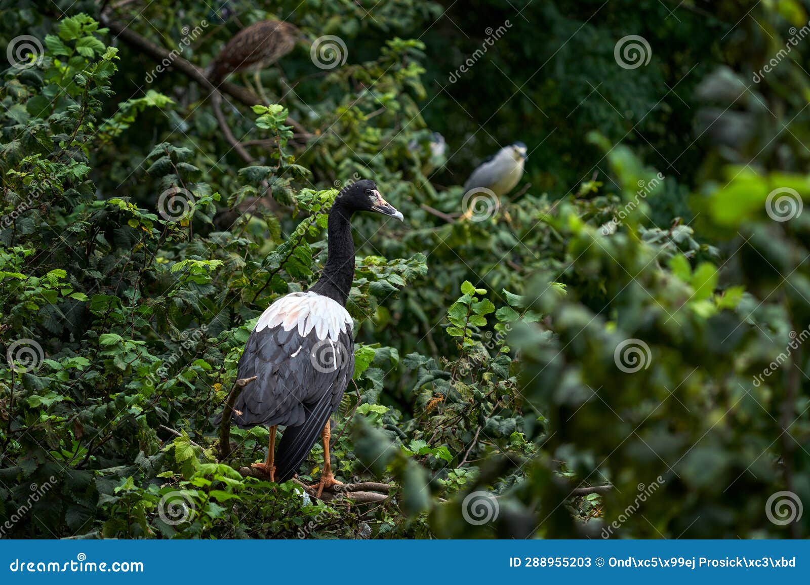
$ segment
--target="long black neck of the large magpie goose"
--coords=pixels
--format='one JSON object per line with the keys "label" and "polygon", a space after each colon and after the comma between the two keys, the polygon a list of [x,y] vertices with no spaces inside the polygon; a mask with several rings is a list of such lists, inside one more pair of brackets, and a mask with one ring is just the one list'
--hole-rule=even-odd
{"label": "long black neck of the large magpie goose", "polygon": [[352,213],[338,199],[329,211],[329,255],[321,278],[309,288],[312,292],[330,297],[346,305],[354,281],[354,241],[352,240]]}

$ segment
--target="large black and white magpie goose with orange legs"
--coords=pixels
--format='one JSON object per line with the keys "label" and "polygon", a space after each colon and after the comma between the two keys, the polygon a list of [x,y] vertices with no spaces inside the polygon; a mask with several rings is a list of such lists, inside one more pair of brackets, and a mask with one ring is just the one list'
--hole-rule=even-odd
{"label": "large black and white magpie goose with orange legs", "polygon": [[[279,298],[258,318],[239,361],[238,378],[253,378],[234,408],[240,428],[270,427],[265,463],[253,467],[283,482],[298,471],[321,434],[324,468],[318,497],[339,485],[331,471],[330,416],[354,373],[352,317],[345,308],[352,288],[355,249],[350,221],[355,211],[375,211],[403,220],[382,199],[374,181],[340,191],[329,211],[329,252],[321,277],[305,292]],[[285,426],[275,453],[275,432]]]}

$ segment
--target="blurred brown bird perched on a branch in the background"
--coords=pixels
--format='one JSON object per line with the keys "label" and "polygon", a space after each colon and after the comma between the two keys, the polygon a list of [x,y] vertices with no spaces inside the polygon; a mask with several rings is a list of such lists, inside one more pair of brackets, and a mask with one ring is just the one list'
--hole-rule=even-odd
{"label": "blurred brown bird perched on a branch in the background", "polygon": [[262,70],[292,51],[303,40],[295,25],[283,20],[261,20],[237,32],[211,65],[207,77],[219,83],[235,71]]}

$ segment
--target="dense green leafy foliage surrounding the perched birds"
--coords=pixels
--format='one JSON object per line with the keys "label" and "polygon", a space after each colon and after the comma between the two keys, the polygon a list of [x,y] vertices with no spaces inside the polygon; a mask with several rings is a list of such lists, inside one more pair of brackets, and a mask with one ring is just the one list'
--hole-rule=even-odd
{"label": "dense green leafy foliage surrounding the perched birds", "polygon": [[[0,535],[808,536],[774,496],[810,506],[810,2],[112,4],[201,69],[272,16],[347,59],[232,76],[267,97],[224,95],[247,161],[96,2],[0,0],[35,46],[0,78]],[[518,139],[518,189],[465,209]],[[405,222],[354,222],[332,456],[394,487],[347,506],[243,476],[267,429],[221,458],[211,418],[359,177]]]}

